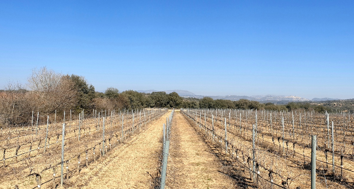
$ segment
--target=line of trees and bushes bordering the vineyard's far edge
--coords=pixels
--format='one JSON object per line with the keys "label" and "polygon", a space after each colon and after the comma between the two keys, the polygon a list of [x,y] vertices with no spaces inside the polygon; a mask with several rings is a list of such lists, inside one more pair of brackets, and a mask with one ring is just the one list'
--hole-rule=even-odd
{"label": "line of trees and bushes bordering the vineyard's far edge", "polygon": [[95,87],[79,75],[64,75],[42,67],[33,69],[27,86],[9,83],[0,91],[0,124],[28,124],[32,111],[41,115],[62,115],[72,110],[78,113],[92,109],[141,109],[141,108],[229,108],[229,109],[269,109],[269,110],[315,110],[333,111],[329,106],[290,102],[287,105],[259,103],[253,100],[236,101],[212,99],[210,97],[183,98],[176,92],[140,93],[133,90],[120,92],[109,87],[105,92],[95,91]]}

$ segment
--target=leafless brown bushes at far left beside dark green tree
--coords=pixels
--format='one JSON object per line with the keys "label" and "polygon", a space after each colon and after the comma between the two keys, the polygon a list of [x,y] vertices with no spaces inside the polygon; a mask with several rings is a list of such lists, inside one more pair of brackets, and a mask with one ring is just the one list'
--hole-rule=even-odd
{"label": "leafless brown bushes at far left beside dark green tree", "polygon": [[30,91],[19,83],[9,82],[0,93],[0,118],[3,125],[25,124],[32,110],[41,115],[72,109],[78,102],[77,90],[69,76],[48,70],[33,69],[28,78]]}

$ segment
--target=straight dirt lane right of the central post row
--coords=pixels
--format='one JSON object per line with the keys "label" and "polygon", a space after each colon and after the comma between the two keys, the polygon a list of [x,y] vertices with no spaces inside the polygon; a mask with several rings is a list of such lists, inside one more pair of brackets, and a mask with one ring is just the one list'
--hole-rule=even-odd
{"label": "straight dirt lane right of the central post row", "polygon": [[176,111],[173,119],[167,187],[235,188],[233,180],[218,171],[221,163],[181,112]]}

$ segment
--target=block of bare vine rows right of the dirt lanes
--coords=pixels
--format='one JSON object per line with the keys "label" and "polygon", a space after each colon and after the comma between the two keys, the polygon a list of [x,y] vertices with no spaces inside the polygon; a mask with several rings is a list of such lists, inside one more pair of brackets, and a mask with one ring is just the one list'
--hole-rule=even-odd
{"label": "block of bare vine rows right of the dirt lanes", "polygon": [[353,188],[350,114],[238,109],[183,113],[257,188],[310,188],[311,135],[317,135],[316,187]]}

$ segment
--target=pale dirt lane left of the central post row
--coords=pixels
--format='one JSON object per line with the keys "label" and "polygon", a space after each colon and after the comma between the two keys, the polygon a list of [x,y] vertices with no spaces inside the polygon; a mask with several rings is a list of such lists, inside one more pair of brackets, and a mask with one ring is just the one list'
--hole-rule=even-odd
{"label": "pale dirt lane left of the central post row", "polygon": [[[72,188],[150,188],[162,149],[162,123],[168,112],[105,159],[82,170]],[[150,175],[151,174],[151,175]]]}

